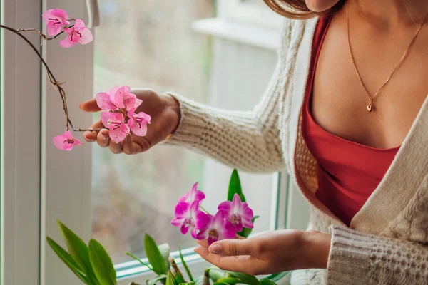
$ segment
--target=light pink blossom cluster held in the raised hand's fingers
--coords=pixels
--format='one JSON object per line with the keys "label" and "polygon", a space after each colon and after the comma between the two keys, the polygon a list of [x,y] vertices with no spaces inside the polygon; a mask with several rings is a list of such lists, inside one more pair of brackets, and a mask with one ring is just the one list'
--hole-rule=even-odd
{"label": "light pink blossom cluster held in the raised hand's fingers", "polygon": [[116,86],[105,93],[98,93],[96,103],[104,110],[101,112],[101,122],[110,130],[113,142],[125,140],[131,131],[141,137],[146,135],[151,116],[144,112],[136,113],[143,101],[131,93],[129,86]]}

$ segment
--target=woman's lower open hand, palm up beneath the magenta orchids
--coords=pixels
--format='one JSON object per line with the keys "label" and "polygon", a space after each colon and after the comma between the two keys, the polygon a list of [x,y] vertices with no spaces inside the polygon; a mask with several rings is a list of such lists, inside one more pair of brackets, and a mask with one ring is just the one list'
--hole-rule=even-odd
{"label": "woman's lower open hand, palm up beneath the magenta orchids", "polygon": [[282,229],[250,239],[225,239],[195,249],[218,268],[251,275],[327,268],[330,234]]}

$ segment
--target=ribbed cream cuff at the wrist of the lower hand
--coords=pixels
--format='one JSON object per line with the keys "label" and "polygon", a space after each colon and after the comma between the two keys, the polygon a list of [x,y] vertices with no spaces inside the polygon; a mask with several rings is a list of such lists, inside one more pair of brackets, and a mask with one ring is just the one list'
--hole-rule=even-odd
{"label": "ribbed cream cuff at the wrist of the lower hand", "polygon": [[341,226],[330,226],[332,241],[327,284],[372,284],[373,239]]}

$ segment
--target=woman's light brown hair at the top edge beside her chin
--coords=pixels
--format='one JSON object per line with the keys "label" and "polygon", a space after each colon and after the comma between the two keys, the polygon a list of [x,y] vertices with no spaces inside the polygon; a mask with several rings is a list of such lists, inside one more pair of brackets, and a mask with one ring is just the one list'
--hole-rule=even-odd
{"label": "woman's light brown hair at the top edge beside her chin", "polygon": [[335,14],[335,12],[339,10],[345,2],[345,0],[340,0],[337,2],[337,4],[335,4],[335,6],[332,6],[332,8],[328,9],[327,11],[323,11],[322,13],[315,13],[313,11],[310,11],[309,8],[307,8],[305,0],[263,0],[263,1],[265,1],[267,6],[269,6],[270,9],[275,11],[277,14],[280,14],[282,16],[285,16],[291,19],[308,19],[317,15],[331,16],[332,14]]}

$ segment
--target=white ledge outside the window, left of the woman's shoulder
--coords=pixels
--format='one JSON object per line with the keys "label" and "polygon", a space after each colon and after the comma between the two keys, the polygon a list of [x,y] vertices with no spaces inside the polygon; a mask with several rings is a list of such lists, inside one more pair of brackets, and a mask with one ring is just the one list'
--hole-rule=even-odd
{"label": "white ledge outside the window, left of the woman's shoulder", "polygon": [[252,26],[223,18],[212,18],[194,21],[193,30],[272,51],[280,47],[280,31],[265,26]]}

